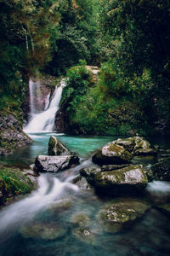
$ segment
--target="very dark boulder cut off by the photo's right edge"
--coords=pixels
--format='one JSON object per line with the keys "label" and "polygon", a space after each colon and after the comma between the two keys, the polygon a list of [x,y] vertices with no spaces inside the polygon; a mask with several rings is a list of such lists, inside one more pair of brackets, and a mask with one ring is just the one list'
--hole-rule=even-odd
{"label": "very dark boulder cut off by the photo's right edge", "polygon": [[150,171],[154,179],[170,181],[170,157],[153,165]]}

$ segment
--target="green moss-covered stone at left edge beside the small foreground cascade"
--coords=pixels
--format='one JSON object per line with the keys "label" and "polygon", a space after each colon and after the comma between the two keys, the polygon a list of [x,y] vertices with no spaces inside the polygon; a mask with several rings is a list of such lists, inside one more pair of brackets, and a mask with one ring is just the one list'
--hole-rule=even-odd
{"label": "green moss-covered stone at left edge beside the small foreground cascade", "polygon": [[0,166],[0,204],[14,195],[25,195],[34,189],[35,184],[20,169]]}

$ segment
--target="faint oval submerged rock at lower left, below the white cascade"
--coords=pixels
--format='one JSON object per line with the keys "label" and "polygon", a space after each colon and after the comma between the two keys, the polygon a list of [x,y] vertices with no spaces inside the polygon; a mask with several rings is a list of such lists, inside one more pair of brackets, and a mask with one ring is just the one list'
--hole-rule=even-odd
{"label": "faint oval submerged rock at lower left, below the white cascade", "polygon": [[25,238],[32,238],[38,240],[55,240],[60,236],[65,235],[66,230],[59,227],[58,224],[31,224],[20,230],[20,233]]}

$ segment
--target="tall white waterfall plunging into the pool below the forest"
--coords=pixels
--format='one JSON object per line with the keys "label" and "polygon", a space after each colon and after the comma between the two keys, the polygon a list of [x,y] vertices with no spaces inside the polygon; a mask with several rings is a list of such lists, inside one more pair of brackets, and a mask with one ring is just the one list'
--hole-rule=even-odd
{"label": "tall white waterfall plunging into the pool below the forest", "polygon": [[[30,82],[31,87],[32,82]],[[26,125],[24,131],[26,133],[31,132],[42,132],[42,131],[53,131],[54,129],[54,119],[55,113],[59,109],[59,102],[62,94],[63,87],[65,86],[65,79],[61,79],[59,86],[57,86],[54,90],[54,94],[51,98],[51,102],[48,102],[48,98],[46,100],[45,110],[41,113],[36,113],[36,109],[34,108],[34,101],[32,100],[32,88],[31,88],[31,120]]]}

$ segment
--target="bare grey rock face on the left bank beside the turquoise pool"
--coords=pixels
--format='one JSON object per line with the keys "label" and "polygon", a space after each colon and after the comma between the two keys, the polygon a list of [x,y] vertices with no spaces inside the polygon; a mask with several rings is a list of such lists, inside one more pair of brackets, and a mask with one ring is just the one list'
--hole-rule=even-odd
{"label": "bare grey rock face on the left bank beside the turquoise pool", "polygon": [[0,155],[12,154],[14,149],[29,143],[32,140],[22,131],[20,122],[12,114],[0,113]]}

